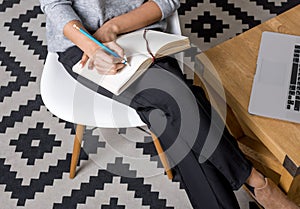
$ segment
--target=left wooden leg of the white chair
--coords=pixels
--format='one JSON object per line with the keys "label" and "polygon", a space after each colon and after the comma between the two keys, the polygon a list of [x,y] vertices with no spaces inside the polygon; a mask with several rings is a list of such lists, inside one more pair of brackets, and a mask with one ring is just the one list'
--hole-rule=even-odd
{"label": "left wooden leg of the white chair", "polygon": [[70,178],[71,179],[73,179],[76,174],[76,166],[77,166],[78,159],[79,159],[84,129],[85,129],[84,125],[78,124],[76,127],[76,135],[74,138],[73,153],[72,153],[72,159],[71,159],[71,164],[70,164]]}

